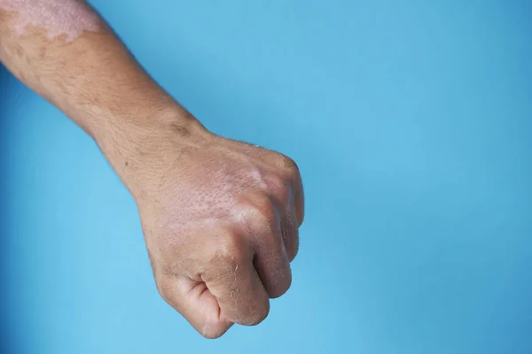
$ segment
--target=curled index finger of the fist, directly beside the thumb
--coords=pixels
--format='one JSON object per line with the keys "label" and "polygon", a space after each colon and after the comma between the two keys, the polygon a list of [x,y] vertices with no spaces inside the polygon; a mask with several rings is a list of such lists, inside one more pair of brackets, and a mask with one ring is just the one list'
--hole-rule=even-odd
{"label": "curled index finger of the fist, directly beside the thumb", "polygon": [[201,278],[215,296],[221,315],[240,325],[253,326],[270,312],[270,299],[253,266],[253,249],[244,238],[224,238],[221,254]]}

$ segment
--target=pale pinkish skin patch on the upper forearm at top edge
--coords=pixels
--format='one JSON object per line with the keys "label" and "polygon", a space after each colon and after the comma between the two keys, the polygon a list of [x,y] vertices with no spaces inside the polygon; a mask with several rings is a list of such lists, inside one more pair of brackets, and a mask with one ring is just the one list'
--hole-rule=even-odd
{"label": "pale pinkish skin patch on the upper forearm at top edge", "polygon": [[49,40],[66,36],[72,42],[84,31],[97,32],[98,14],[78,0],[0,0],[0,12],[14,12],[13,29],[25,35],[28,27],[43,29]]}

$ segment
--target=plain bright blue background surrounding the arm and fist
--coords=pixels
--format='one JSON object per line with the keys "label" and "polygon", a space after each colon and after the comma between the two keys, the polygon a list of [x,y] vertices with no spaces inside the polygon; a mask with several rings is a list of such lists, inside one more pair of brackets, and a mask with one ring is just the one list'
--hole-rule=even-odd
{"label": "plain bright blue background surrounding the arm and fist", "polygon": [[293,288],[202,339],[96,145],[3,69],[5,352],[532,352],[530,2],[92,4],[208,128],[301,165]]}

